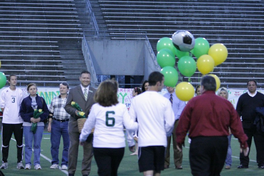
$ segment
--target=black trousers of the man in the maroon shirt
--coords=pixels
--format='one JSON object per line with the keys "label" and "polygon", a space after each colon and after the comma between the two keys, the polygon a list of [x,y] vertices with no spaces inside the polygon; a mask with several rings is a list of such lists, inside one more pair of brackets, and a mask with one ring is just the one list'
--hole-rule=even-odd
{"label": "black trousers of the man in the maroon shirt", "polygon": [[228,147],[227,136],[199,136],[192,138],[189,160],[194,176],[219,176]]}

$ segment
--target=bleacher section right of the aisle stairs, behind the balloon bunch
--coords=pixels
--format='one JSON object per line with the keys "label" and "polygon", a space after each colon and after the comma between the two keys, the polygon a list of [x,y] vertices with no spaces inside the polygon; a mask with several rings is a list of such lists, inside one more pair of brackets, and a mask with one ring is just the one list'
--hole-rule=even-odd
{"label": "bleacher section right of the aisle stairs, behind the balloon bunch", "polygon": [[[248,79],[256,79],[264,88],[263,1],[99,0],[98,3],[108,31],[116,34],[146,31],[154,52],[160,38],[171,37],[178,30],[187,30],[195,38],[204,37],[210,45],[223,43],[228,48],[228,58],[212,72],[220,78],[221,85],[245,88]],[[197,70],[191,78],[182,77],[195,86],[201,76]]]}

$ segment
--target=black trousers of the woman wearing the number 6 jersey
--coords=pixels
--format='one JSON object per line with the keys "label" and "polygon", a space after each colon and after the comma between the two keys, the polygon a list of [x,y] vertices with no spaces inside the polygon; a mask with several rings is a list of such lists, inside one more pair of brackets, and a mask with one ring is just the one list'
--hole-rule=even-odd
{"label": "black trousers of the woman wearing the number 6 jersey", "polygon": [[124,156],[125,148],[96,148],[94,159],[99,176],[117,176],[117,170]]}

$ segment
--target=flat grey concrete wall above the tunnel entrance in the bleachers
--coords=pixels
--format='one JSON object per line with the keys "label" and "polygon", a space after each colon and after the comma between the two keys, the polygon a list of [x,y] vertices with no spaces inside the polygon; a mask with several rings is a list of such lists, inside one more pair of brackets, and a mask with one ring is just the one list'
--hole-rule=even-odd
{"label": "flat grey concrete wall above the tunnel entrance in the bleachers", "polygon": [[87,40],[97,75],[144,75],[144,40]]}

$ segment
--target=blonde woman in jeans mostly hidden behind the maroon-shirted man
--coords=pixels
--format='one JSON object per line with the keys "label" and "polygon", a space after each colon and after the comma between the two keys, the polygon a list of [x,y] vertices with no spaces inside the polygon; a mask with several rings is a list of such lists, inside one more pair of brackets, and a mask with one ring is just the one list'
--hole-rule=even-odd
{"label": "blonde woman in jeans mostly hidden behind the maroon-shirted man", "polygon": [[[218,90],[217,95],[220,97],[223,97],[224,99],[228,99],[228,91],[225,87],[221,87]],[[227,136],[227,138],[228,138],[228,149],[227,149],[227,155],[226,155],[226,167],[225,167],[225,169],[230,169],[231,165],[232,165],[231,136],[232,136],[232,133],[231,133],[231,130],[229,128],[229,136]]]}

